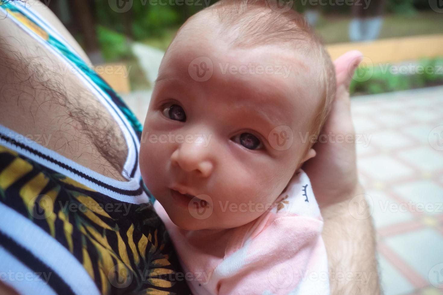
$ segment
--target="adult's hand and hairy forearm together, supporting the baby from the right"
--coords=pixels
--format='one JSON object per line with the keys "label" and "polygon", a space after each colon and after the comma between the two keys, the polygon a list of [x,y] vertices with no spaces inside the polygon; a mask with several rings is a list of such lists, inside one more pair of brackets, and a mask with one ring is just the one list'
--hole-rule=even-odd
{"label": "adult's hand and hairy forearm together, supporting the baby from the right", "polygon": [[[361,59],[360,52],[350,51],[334,62],[337,93],[321,134],[354,138],[349,85]],[[328,255],[331,294],[380,294],[375,233],[369,211],[362,215],[358,208],[350,206],[351,202],[365,204],[358,182],[354,140],[318,142],[314,149],[317,155],[303,169],[323,215],[322,237]],[[347,279],[340,279],[338,274],[346,274]]]}

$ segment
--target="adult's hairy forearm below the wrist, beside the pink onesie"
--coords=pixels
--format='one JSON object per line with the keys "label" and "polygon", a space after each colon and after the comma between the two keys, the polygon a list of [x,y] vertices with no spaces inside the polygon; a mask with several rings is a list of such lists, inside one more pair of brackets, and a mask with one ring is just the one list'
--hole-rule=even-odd
{"label": "adult's hairy forearm below the wrist, beside the pink onesie", "polygon": [[321,208],[331,295],[378,295],[375,231],[361,186],[346,201]]}

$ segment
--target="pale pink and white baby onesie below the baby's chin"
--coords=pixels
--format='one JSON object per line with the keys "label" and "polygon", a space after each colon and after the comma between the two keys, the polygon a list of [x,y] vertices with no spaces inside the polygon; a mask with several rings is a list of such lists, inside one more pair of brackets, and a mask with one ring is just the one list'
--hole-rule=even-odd
{"label": "pale pink and white baby onesie below the baby's chin", "polygon": [[236,228],[183,230],[154,207],[193,294],[330,294],[323,218],[301,169],[275,206]]}

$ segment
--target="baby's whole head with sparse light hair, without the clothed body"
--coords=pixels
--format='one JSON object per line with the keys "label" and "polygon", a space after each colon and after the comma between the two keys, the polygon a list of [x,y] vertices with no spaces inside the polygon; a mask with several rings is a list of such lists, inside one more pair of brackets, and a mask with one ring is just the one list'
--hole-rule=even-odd
{"label": "baby's whole head with sparse light hair, without the clothed body", "polygon": [[221,0],[188,19],[163,57],[143,179],[183,229],[251,222],[315,156],[309,135],[334,93],[334,66],[303,16]]}

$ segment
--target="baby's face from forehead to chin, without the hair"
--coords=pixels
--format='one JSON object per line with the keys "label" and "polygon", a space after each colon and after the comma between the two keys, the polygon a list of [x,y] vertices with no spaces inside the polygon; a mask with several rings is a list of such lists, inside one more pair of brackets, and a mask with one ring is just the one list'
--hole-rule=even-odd
{"label": "baby's face from forehead to chin, without the hair", "polygon": [[[198,57],[205,58],[193,61]],[[187,33],[175,39],[152,94],[140,169],[177,226],[223,229],[253,221],[313,156],[303,159],[320,100],[311,62],[278,46],[231,49]],[[271,70],[261,73],[259,65]],[[240,73],[245,67],[251,70]],[[212,76],[199,81],[197,68],[200,76],[212,69]]]}

